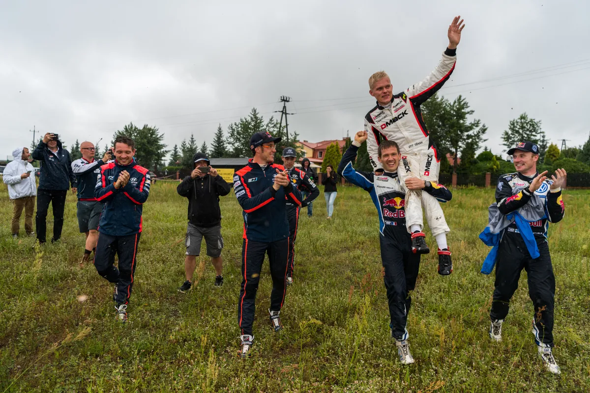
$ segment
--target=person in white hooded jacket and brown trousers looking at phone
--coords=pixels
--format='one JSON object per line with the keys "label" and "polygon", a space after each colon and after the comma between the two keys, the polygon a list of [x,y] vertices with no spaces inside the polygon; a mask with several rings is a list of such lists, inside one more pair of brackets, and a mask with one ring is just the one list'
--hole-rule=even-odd
{"label": "person in white hooded jacket and brown trousers looking at phone", "polygon": [[11,221],[12,238],[18,237],[23,208],[25,209],[25,231],[28,236],[31,236],[33,234],[35,196],[37,196],[35,168],[28,162],[31,156],[29,149],[25,147],[14,149],[12,156],[14,160],[6,165],[2,176],[2,181],[8,185],[8,197],[14,206]]}

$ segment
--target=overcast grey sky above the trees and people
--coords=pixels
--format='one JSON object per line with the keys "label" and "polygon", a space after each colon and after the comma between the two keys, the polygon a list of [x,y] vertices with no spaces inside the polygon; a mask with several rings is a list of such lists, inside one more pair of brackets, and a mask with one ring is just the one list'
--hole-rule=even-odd
{"label": "overcast grey sky above the trees and people", "polygon": [[522,112],[558,146],[588,139],[586,2],[7,0],[0,157],[29,146],[33,126],[68,146],[102,148],[130,121],[158,126],[170,148],[191,132],[210,144],[219,123],[253,106],[267,118],[281,95],[300,139],[352,135],[374,105],[368,77],[385,70],[394,92],[424,78],[457,14],[466,28],[441,93],[467,98],[494,153]]}

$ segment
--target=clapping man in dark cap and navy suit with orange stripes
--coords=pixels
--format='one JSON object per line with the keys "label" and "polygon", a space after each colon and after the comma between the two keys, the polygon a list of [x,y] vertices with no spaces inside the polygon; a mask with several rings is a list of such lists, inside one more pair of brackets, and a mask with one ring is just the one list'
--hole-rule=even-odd
{"label": "clapping man in dark cap and navy suit with orange stripes", "polygon": [[273,291],[270,294],[270,321],[274,331],[283,328],[279,313],[283,307],[287,282],[289,254],[289,222],[287,201],[301,205],[301,192],[289,181],[282,165],[274,164],[275,144],[268,132],[257,132],[250,139],[254,154],[248,165],[235,172],[235,196],[244,212],[244,243],[242,245],[242,285],[238,298],[238,324],[241,329],[240,357],[250,356],[254,341],[254,302],[264,254],[268,254]]}

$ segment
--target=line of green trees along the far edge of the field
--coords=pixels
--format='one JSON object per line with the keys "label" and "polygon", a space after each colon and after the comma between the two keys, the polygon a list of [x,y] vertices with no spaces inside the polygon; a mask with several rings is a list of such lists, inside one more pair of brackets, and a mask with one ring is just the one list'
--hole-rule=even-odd
{"label": "line of green trees along the far edge of the field", "polygon": [[[421,105],[417,115],[422,119],[430,131],[432,142],[437,145],[440,153],[441,173],[481,174],[485,172],[513,172],[514,167],[502,157],[490,151],[484,143],[488,131],[486,124],[480,119],[473,118],[474,110],[470,108],[467,100],[459,95],[453,101],[444,96],[434,95]],[[194,134],[190,138],[183,139],[180,144],[175,144],[171,149],[163,142],[164,134],[156,126],[144,124],[142,128],[132,122],[123,126],[113,134],[110,146],[119,135],[133,138],[136,144],[136,159],[140,165],[156,171],[162,169],[177,170],[192,168],[192,156],[196,152],[202,152],[209,158],[234,158],[251,157],[250,137],[255,132],[268,131],[273,136],[279,136],[282,141],[277,144],[275,161],[281,162],[281,153],[287,146],[293,147],[297,152],[297,158],[304,154],[299,142],[297,132],[291,132],[289,142],[286,138],[284,126],[280,126],[273,116],[265,120],[256,108],[252,108],[250,114],[239,121],[228,125],[227,130],[222,129],[221,124],[215,131],[211,145],[203,141],[201,145],[195,139]],[[507,128],[501,136],[504,147],[512,148],[516,142],[532,141],[539,145],[539,171],[554,168],[565,168],[568,172],[590,172],[590,138],[584,145],[571,147],[559,151],[555,144],[548,145],[545,131],[541,121],[530,118],[525,113],[516,119],[510,120]],[[344,149],[350,145],[350,139]],[[62,141],[64,147],[65,142]],[[108,145],[103,149],[96,146],[96,157],[100,158]],[[31,146],[35,148],[34,145]],[[476,155],[477,151],[483,151]],[[328,146],[324,155],[322,171],[332,164],[335,168],[339,164],[342,152],[337,144]],[[80,158],[80,143],[78,140],[70,146],[70,154],[73,159]],[[447,154],[451,162],[445,158]],[[169,155],[169,158],[166,157]],[[355,168],[362,171],[371,171],[369,155],[366,144],[363,144],[358,152]]]}

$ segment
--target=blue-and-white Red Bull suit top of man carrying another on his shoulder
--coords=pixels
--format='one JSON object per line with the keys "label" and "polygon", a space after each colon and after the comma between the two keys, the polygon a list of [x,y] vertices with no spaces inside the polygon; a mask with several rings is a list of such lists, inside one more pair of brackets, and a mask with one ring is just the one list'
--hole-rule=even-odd
{"label": "blue-and-white Red Bull suit top of man carrying another on his shoulder", "polygon": [[[352,184],[369,192],[379,212],[379,232],[394,239],[409,237],[405,224],[405,192],[399,183],[397,173],[384,172],[376,176],[373,172],[356,171],[352,166],[358,147],[350,145],[338,165],[338,174]],[[453,194],[444,185],[430,182],[422,191],[434,196],[440,202],[447,202]]]}

